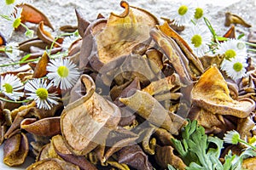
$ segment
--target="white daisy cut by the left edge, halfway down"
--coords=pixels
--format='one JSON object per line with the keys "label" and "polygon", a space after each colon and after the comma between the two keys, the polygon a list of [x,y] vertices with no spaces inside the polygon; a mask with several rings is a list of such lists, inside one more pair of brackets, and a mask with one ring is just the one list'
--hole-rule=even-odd
{"label": "white daisy cut by the left edge, halfway down", "polygon": [[19,77],[12,74],[7,74],[5,77],[1,77],[1,93],[9,97],[9,99],[17,100],[20,99],[24,94],[19,92],[23,89],[23,83],[20,81]]}

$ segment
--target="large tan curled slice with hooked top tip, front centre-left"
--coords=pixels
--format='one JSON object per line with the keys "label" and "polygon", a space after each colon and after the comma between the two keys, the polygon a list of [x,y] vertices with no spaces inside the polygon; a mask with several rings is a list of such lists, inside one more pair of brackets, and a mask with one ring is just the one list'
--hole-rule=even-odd
{"label": "large tan curled slice with hooked top tip, front centre-left", "polygon": [[[108,133],[120,120],[119,108],[96,94],[91,77],[81,76],[86,94],[67,105],[61,114],[61,133],[67,148],[75,155],[86,155],[98,144],[104,144]],[[79,87],[81,88],[81,87]],[[81,89],[75,89],[82,93]]]}

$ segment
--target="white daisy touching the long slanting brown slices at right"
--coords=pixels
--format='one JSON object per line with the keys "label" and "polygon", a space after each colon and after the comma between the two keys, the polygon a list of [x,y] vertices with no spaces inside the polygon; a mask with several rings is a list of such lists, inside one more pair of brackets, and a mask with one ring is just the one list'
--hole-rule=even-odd
{"label": "white daisy touching the long slanting brown slices at right", "polygon": [[183,37],[197,56],[209,52],[208,44],[212,41],[212,34],[207,26],[193,25],[184,31]]}

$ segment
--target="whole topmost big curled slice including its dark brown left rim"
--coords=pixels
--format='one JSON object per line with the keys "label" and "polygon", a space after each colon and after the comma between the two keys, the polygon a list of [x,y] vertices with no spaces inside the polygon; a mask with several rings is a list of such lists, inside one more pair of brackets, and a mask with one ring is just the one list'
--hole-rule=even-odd
{"label": "whole topmost big curled slice including its dark brown left rim", "polygon": [[111,13],[108,20],[98,19],[84,33],[80,62],[90,57],[90,65],[96,71],[108,62],[131,54],[139,43],[150,44],[151,40],[146,41],[149,31],[159,23],[153,14],[142,8],[132,7],[125,1],[121,1],[120,6],[125,8],[122,14]]}

